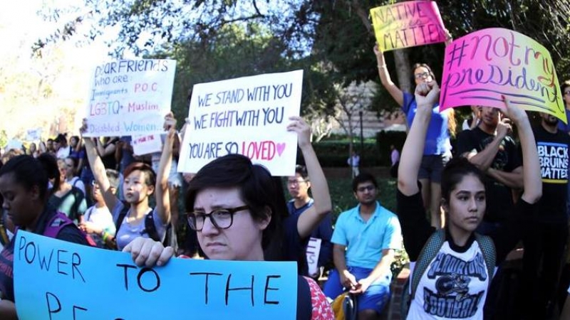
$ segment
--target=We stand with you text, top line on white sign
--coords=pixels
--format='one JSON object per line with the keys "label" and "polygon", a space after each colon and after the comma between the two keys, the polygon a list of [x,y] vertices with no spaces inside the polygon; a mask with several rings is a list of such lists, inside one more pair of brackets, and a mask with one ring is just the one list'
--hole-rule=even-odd
{"label": "We stand with you text, top line on white sign", "polygon": [[212,105],[232,105],[242,102],[244,98],[248,102],[280,100],[291,97],[293,83],[285,85],[262,85],[259,87],[224,90],[207,93],[198,96],[198,107],[210,107]]}

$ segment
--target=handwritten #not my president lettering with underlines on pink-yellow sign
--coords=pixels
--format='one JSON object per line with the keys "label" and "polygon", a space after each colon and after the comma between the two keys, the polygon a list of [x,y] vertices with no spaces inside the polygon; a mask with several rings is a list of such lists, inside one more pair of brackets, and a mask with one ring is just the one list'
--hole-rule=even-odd
{"label": "handwritten #not my president lettering with underlines on pink-yellow sign", "polygon": [[[485,63],[474,63],[480,59]],[[520,100],[539,108],[559,98],[556,72],[550,57],[528,43],[519,43],[514,31],[506,34],[479,32],[458,39],[447,49],[445,64],[445,69],[450,71],[442,80],[442,105],[447,96],[455,95],[455,92],[471,92],[483,99],[485,92],[506,94],[507,90],[516,89]],[[495,85],[495,88],[467,89],[472,85],[487,84]],[[499,97],[489,95],[485,99],[499,100]]]}

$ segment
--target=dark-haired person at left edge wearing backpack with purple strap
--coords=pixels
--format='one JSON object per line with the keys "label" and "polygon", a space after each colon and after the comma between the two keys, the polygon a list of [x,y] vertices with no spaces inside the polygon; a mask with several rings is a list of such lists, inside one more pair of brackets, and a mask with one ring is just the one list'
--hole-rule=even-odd
{"label": "dark-haired person at left edge wearing backpack with purple strap", "polygon": [[[90,245],[86,235],[63,213],[48,205],[48,172],[56,184],[59,180],[56,159],[42,154],[16,156],[0,169],[2,208],[18,230],[46,235],[58,240]],[[0,253],[0,319],[18,319],[14,297],[14,241],[12,238]]]}

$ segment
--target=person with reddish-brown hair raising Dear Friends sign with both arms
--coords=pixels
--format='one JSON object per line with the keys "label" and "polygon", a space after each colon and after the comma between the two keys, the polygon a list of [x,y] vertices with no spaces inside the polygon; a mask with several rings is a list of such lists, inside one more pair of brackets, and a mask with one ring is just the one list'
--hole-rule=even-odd
{"label": "person with reddish-brown hair raising Dear Friends sign with both arms", "polygon": [[[86,154],[89,165],[93,170],[95,182],[98,184],[107,208],[113,214],[116,234],[103,233],[103,242],[108,247],[116,247],[123,250],[133,239],[142,235],[145,238],[164,241],[172,240],[167,237],[170,225],[170,198],[168,193],[168,172],[172,163],[172,143],[174,140],[176,120],[172,113],[165,117],[165,129],[167,137],[165,146],[162,149],[162,156],[157,172],[142,162],[133,162],[123,172],[123,196],[125,202],[113,193],[105,173],[105,166],[101,157],[97,153],[95,142],[91,138],[83,138],[86,146]],[[87,122],[83,121],[81,133],[87,130]],[[149,199],[155,194],[156,206],[154,209],[149,206]]]}

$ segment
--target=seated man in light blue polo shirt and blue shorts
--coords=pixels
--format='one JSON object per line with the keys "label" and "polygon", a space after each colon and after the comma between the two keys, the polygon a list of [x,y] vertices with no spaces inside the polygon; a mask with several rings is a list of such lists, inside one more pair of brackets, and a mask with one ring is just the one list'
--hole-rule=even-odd
{"label": "seated man in light blue polo shirt and blue shorts", "polygon": [[358,295],[358,319],[378,319],[390,299],[390,265],[402,235],[398,217],[376,201],[378,183],[371,174],[354,178],[358,206],[338,216],[333,233],[332,270],[324,285],[335,299],[348,289]]}

